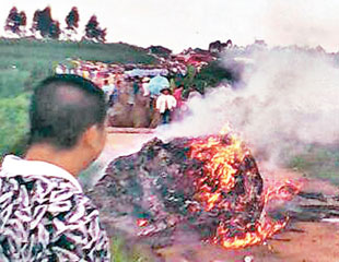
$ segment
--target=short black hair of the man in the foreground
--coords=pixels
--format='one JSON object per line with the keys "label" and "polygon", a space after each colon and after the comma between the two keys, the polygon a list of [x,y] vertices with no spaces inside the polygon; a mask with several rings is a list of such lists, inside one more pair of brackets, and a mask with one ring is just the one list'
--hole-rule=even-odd
{"label": "short black hair of the man in the foreground", "polygon": [[104,92],[90,80],[72,74],[47,78],[32,96],[28,143],[71,148],[87,128],[104,126],[106,110]]}

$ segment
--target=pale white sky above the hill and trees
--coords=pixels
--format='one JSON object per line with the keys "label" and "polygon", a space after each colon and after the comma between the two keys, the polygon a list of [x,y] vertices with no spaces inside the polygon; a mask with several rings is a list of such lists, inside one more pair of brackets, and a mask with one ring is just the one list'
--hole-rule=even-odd
{"label": "pale white sky above the hill and trees", "polygon": [[238,46],[256,39],[269,46],[320,45],[339,51],[339,0],[2,0],[0,24],[13,5],[26,12],[28,23],[35,10],[50,5],[62,27],[68,12],[78,7],[80,33],[95,14],[107,27],[108,41],[162,45],[175,52],[207,49],[218,39]]}

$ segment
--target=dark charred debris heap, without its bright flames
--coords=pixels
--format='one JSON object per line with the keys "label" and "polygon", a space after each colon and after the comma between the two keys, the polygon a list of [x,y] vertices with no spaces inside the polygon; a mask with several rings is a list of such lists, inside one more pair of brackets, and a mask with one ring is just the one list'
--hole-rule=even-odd
{"label": "dark charred debris heap, without its bright flames", "polygon": [[[208,143],[209,138],[199,141]],[[230,145],[226,135],[213,138],[224,147]],[[220,238],[241,238],[255,230],[264,205],[262,179],[255,159],[249,152],[243,157],[234,156],[234,186],[226,191],[220,189],[218,180],[206,179],[206,163],[191,157],[195,142],[187,138],[168,143],[153,139],[138,153],[108,165],[105,176],[90,192],[106,217],[108,233],[120,231],[129,239],[159,248],[172,245],[178,231],[192,234],[198,240],[215,240],[221,224],[230,230]],[[213,156],[211,148],[200,153]],[[203,191],[207,188],[211,191]],[[213,196],[212,192],[220,193],[220,198],[208,207],[210,200],[203,198]]]}

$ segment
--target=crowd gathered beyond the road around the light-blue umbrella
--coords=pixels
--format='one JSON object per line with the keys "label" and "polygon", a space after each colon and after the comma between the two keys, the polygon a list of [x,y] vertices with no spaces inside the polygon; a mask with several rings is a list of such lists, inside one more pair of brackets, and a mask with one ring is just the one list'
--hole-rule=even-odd
{"label": "crowd gathered beyond the road around the light-blue umbrella", "polygon": [[126,70],[101,62],[79,67],[79,61],[73,62],[78,67],[71,69],[58,64],[56,74],[77,74],[100,86],[109,105],[113,127],[155,128],[179,119],[185,111],[184,86],[175,78],[168,78],[166,69]]}

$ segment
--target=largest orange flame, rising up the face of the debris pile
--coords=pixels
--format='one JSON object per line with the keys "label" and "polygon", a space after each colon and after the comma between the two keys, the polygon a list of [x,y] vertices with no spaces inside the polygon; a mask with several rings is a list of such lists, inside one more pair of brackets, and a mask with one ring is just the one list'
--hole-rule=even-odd
{"label": "largest orange flame, rising up the face of the debris pile", "polygon": [[[235,186],[236,163],[249,154],[242,141],[230,134],[229,126],[221,133],[208,139],[195,139],[190,143],[191,158],[206,163],[203,178],[198,180],[198,199],[206,211],[211,211],[220,202],[222,192],[230,192]],[[215,187],[217,186],[217,187]]]}

